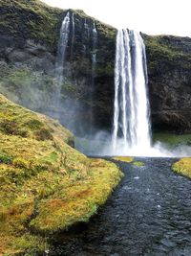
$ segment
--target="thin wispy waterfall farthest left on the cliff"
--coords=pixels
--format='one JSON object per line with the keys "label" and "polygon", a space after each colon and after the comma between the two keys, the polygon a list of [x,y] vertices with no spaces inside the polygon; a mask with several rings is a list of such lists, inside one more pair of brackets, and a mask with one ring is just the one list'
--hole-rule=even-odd
{"label": "thin wispy waterfall farthest left on the cliff", "polygon": [[54,104],[59,107],[61,86],[64,78],[64,62],[66,58],[66,48],[70,34],[70,12],[67,12],[60,29],[60,38],[58,42],[57,57],[55,63],[55,77],[57,88],[54,95]]}

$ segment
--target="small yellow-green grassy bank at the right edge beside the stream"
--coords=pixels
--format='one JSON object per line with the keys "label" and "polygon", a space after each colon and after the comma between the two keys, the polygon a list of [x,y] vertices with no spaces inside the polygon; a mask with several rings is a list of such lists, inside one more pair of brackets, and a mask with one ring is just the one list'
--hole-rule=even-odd
{"label": "small yellow-green grassy bank at the right edge beside the stream", "polygon": [[172,166],[173,171],[191,178],[191,158],[182,158]]}

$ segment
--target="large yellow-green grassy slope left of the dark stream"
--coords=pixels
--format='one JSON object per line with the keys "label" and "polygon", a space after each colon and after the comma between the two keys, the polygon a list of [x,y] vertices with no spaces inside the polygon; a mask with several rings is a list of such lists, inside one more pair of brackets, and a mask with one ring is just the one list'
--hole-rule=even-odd
{"label": "large yellow-green grassy slope left of the dark stream", "polygon": [[44,250],[46,237],[88,221],[117,186],[116,165],[87,158],[72,140],[0,95],[0,255]]}

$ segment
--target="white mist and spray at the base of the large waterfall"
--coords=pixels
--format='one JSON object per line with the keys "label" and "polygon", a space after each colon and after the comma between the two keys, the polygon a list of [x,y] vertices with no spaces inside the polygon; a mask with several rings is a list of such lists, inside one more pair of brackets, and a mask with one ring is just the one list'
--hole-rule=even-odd
{"label": "white mist and spray at the base of the large waterfall", "polygon": [[138,157],[189,157],[191,147],[187,145],[168,146],[160,141],[152,142],[151,147],[127,149],[124,141],[117,139],[117,149],[112,147],[112,134],[106,130],[97,131],[92,136],[75,137],[75,149],[89,156],[138,156]]}

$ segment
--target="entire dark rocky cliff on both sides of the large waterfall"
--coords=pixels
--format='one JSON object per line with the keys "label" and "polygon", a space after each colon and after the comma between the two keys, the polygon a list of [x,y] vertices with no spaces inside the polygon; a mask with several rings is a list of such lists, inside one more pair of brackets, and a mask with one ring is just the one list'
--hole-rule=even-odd
{"label": "entire dark rocky cliff on both sides of the large waterfall", "polygon": [[[89,132],[91,115],[94,128],[110,129],[116,29],[84,12],[53,9],[37,0],[0,0],[0,6],[0,92],[16,103],[57,117],[75,134]],[[67,72],[61,88],[61,105],[57,108],[53,105],[54,67],[59,31],[67,12],[74,15],[74,35],[71,23]],[[191,38],[143,37],[153,128],[190,131]]]}

